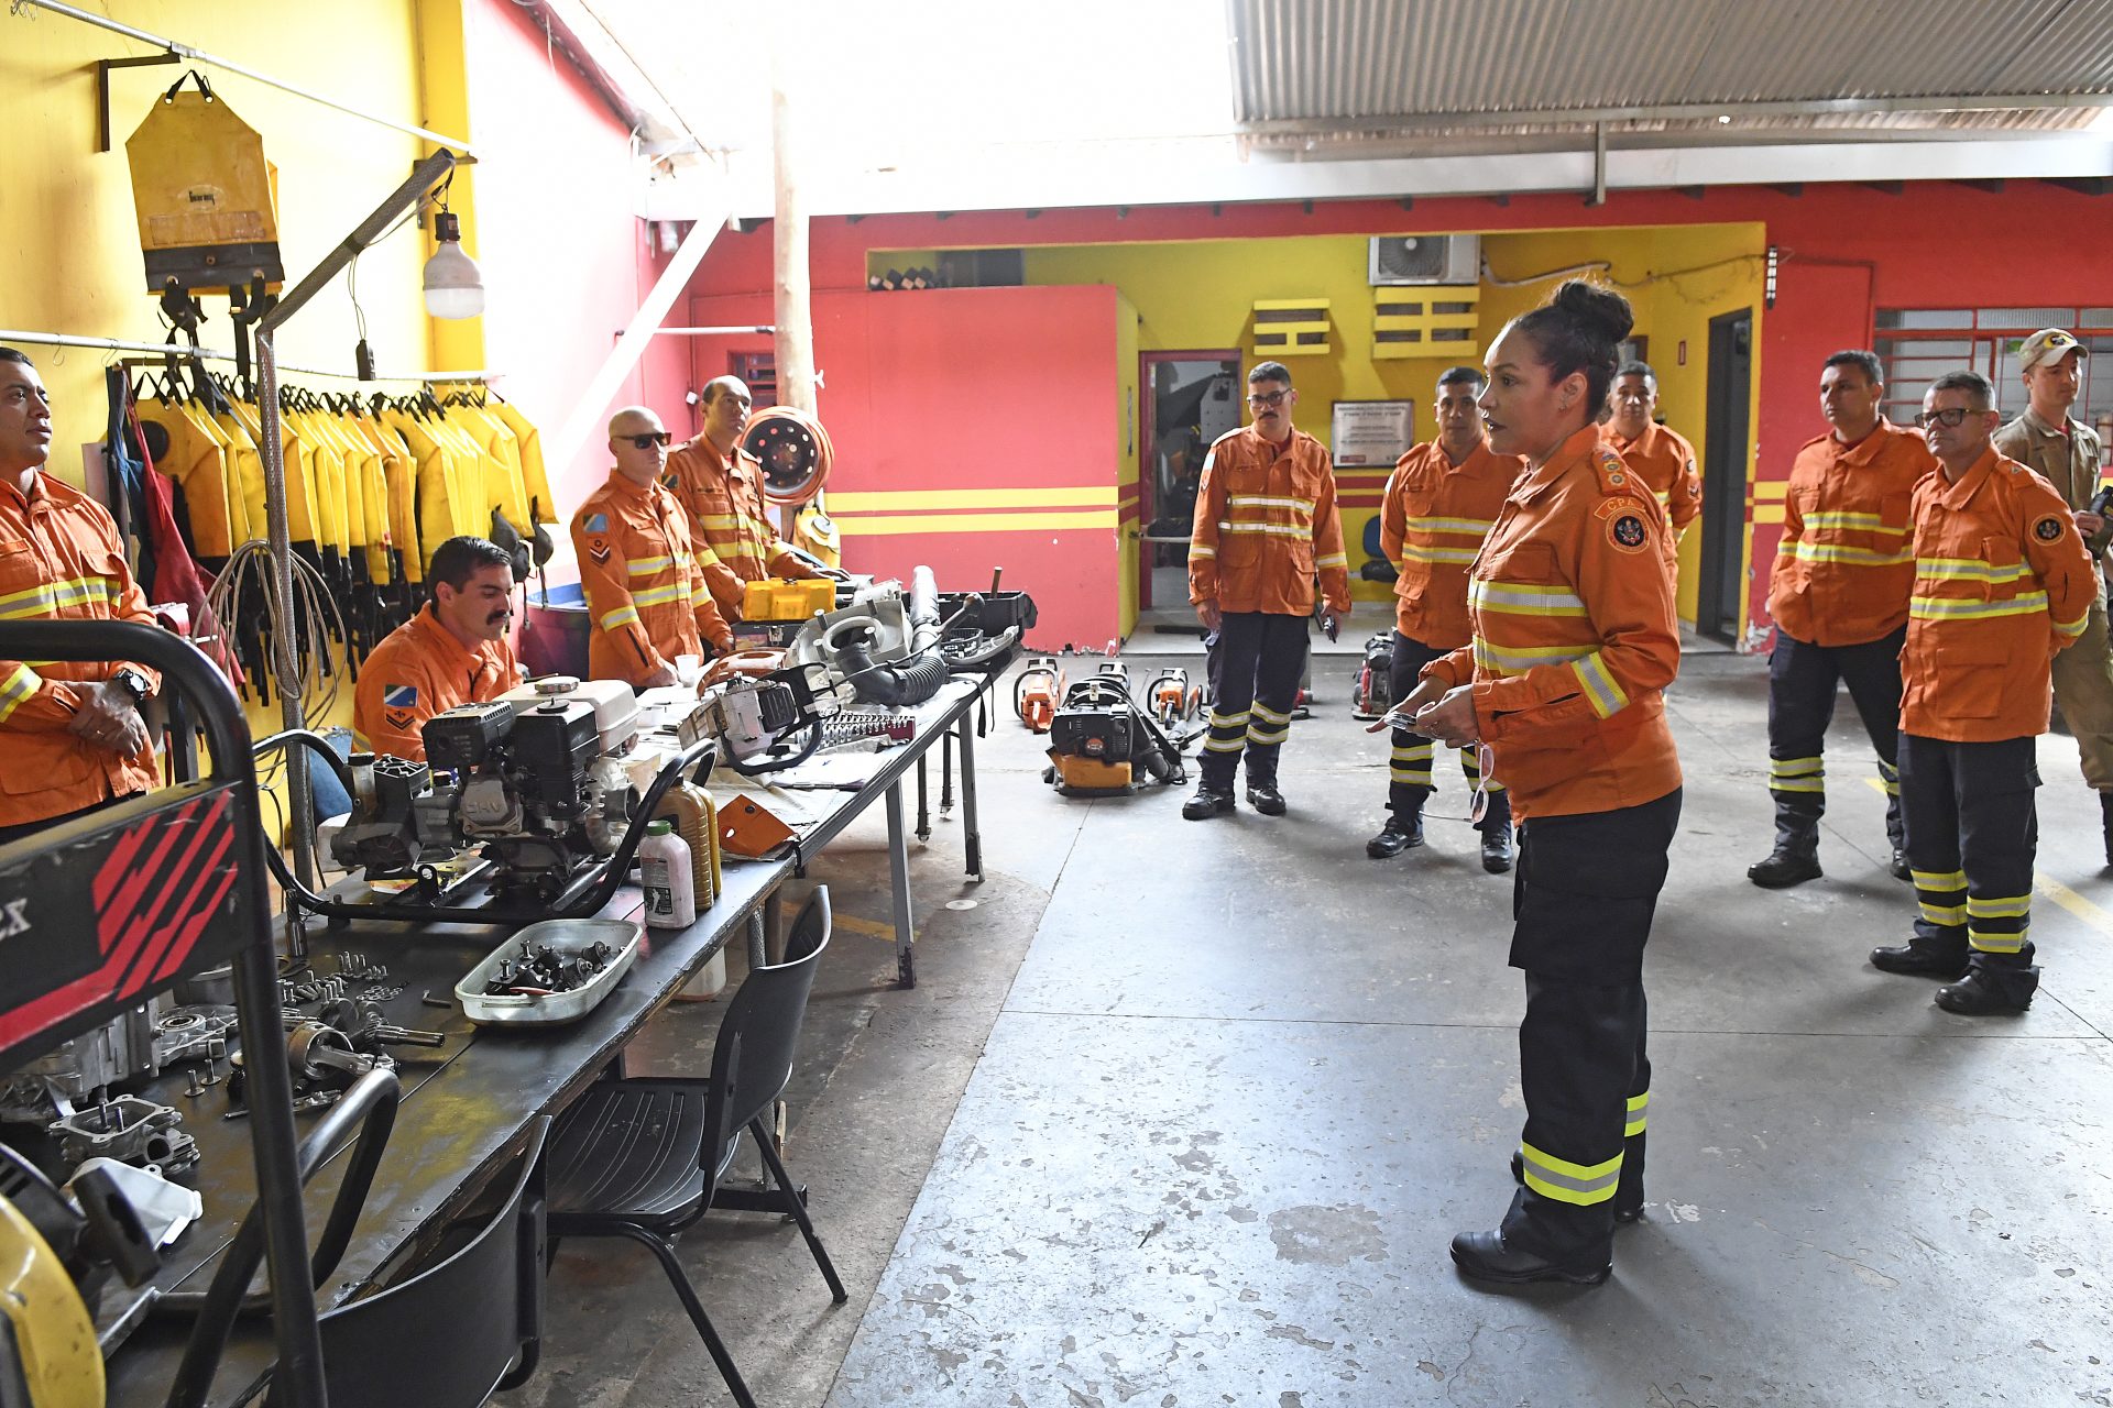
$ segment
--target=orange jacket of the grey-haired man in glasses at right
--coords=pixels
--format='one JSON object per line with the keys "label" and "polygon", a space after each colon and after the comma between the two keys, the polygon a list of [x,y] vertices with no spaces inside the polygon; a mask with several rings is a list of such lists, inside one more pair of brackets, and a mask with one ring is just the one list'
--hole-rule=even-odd
{"label": "orange jacket of the grey-haired man in glasses at right", "polygon": [[2047,730],[2054,652],[2083,633],[2096,574],[2069,502],[1990,445],[1914,490],[1914,595],[1900,726],[1995,743]]}

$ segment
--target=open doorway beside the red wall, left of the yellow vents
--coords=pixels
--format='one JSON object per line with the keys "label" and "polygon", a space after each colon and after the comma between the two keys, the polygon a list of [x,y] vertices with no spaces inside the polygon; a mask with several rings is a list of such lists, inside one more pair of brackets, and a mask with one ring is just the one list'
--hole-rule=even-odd
{"label": "open doorway beside the red wall, left of the yellow vents", "polygon": [[1139,521],[1137,608],[1188,602],[1188,536],[1196,515],[1202,456],[1238,431],[1240,353],[1143,353],[1143,433],[1137,441]]}

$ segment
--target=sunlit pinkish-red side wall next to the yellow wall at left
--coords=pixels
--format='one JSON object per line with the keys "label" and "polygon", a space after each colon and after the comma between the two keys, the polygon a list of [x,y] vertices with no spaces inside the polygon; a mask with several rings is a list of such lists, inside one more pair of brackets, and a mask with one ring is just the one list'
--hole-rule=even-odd
{"label": "sunlit pinkish-red side wall next to the yellow wall at left", "polygon": [[[632,213],[644,177],[630,131],[562,53],[551,55],[528,11],[471,0],[463,25],[486,365],[505,372],[501,395],[556,433],[666,260]],[[653,405],[670,431],[689,435],[687,388],[689,348],[657,338],[611,407]],[[606,469],[600,441],[579,462],[549,467],[560,519]]]}

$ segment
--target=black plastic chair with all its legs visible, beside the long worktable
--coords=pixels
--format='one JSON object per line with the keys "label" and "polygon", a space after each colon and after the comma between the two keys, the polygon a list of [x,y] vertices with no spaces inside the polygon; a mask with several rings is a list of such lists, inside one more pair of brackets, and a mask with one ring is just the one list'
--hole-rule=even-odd
{"label": "black plastic chair with all its legs visible, beside the long worktable", "polygon": [[[807,1191],[786,1174],[767,1125],[792,1079],[792,1051],[828,931],[824,887],[792,920],[784,963],[750,971],[727,1003],[710,1081],[602,1081],[558,1117],[551,1136],[551,1245],[562,1237],[628,1237],[653,1252],[742,1408],[754,1408],[756,1400],[682,1273],[674,1239],[712,1207],[788,1216],[799,1222],[830,1296],[839,1305],[847,1298],[807,1218]],[[754,1136],[771,1174],[761,1188],[721,1186],[742,1129]]]}

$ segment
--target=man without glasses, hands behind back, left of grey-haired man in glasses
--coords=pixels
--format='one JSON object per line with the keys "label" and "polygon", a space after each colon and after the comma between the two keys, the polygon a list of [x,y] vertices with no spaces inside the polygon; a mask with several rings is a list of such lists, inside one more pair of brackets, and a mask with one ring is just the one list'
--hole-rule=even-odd
{"label": "man without glasses, hands behind back, left of grey-haired man in glasses", "polygon": [[1798,450],[1783,496],[1783,540],[1769,578],[1769,794],[1775,849],[1747,868],[1762,889],[1819,878],[1828,724],[1849,699],[1878,754],[1891,872],[1908,878],[1900,817],[1900,648],[1908,638],[1914,551],[1908,500],[1936,469],[1914,431],[1878,414],[1885,376],[1870,353],[1834,353],[1819,372],[1819,414],[1834,429]]}

